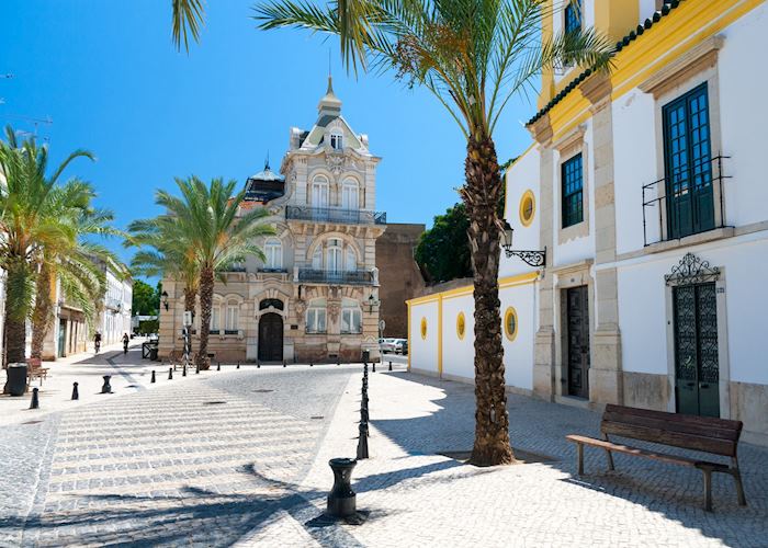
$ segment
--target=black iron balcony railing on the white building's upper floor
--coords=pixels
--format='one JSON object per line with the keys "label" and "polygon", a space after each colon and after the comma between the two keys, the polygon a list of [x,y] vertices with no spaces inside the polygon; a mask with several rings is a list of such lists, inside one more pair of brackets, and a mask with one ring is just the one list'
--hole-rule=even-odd
{"label": "black iron balcony railing on the white building's upper floor", "polygon": [[647,247],[725,228],[723,160],[705,158],[643,185],[643,243]]}

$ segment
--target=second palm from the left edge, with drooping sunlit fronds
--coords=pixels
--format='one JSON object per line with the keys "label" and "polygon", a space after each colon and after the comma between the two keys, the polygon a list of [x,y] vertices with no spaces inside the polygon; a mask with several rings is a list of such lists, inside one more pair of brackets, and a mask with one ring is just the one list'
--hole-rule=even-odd
{"label": "second palm from the left edge, with drooping sunlit fronds", "polygon": [[100,263],[108,261],[118,276],[127,276],[127,270],[111,251],[88,240],[94,236],[122,235],[110,226],[114,219],[111,212],[92,207],[94,197],[92,185],[78,179],[54,187],[47,196],[44,215],[59,224],[59,238],[37,246],[33,256],[37,276],[32,313],[32,357],[42,356],[53,319],[57,281],[64,298],[76,304],[92,327],[106,285],[106,275]]}

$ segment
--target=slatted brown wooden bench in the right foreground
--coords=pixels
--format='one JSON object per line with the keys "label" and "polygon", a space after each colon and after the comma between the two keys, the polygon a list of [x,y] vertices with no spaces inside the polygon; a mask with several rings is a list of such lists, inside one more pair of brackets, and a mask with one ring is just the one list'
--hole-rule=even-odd
{"label": "slatted brown wooden bench in the right foreground", "polygon": [[[694,416],[622,406],[606,406],[600,423],[602,439],[571,434],[565,436],[576,444],[578,473],[584,473],[584,446],[591,445],[606,452],[608,468],[613,470],[612,453],[623,453],[634,457],[645,457],[667,463],[698,468],[704,479],[704,510],[712,511],[712,472],[733,476],[736,482],[738,504],[746,505],[742,475],[738,471],[736,449],[742,434],[742,422],[709,416]],[[632,447],[609,439],[620,436],[656,444],[680,447],[701,453],[730,457],[731,464],[714,463],[698,458],[681,457],[639,447]]]}

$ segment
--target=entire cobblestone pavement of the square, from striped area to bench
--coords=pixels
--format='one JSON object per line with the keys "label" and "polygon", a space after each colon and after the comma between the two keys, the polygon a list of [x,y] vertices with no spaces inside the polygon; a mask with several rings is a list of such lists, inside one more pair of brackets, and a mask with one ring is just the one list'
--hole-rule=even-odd
{"label": "entire cobblestone pavement of the square, from striped area to bench", "polygon": [[371,457],[358,464],[362,525],[320,517],[328,459],[353,456],[360,370],[241,369],[166,383],[3,427],[0,546],[768,546],[768,450],[739,447],[730,477],[586,452],[567,433],[599,414],[509,396],[527,464],[478,469],[440,453],[473,439],[472,387],[371,373]]}

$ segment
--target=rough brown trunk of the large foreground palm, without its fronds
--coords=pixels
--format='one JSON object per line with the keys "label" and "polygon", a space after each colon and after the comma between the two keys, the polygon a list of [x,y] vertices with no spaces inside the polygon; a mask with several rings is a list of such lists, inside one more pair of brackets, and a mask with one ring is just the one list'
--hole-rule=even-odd
{"label": "rough brown trunk of the large foreground palm, without its fronds", "polygon": [[475,298],[475,466],[515,461],[509,444],[509,415],[504,378],[501,316],[499,313],[499,226],[496,213],[501,176],[496,146],[489,137],[470,139],[462,196],[470,217],[470,244]]}

